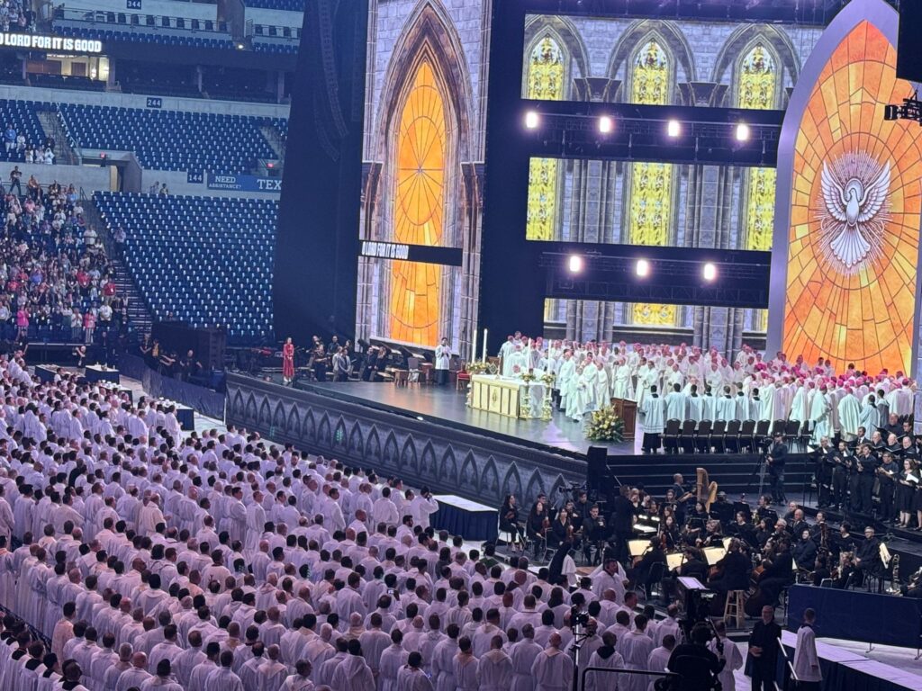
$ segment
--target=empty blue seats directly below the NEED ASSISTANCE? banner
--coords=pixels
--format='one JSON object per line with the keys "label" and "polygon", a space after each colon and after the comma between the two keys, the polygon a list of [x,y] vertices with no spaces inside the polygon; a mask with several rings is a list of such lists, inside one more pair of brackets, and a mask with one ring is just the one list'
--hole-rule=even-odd
{"label": "empty blue seats directly below the NEED ASSISTANCE? banner", "polygon": [[272,326],[278,203],[263,199],[95,193],[100,217],[125,233],[125,263],[155,319],[225,326],[237,344]]}

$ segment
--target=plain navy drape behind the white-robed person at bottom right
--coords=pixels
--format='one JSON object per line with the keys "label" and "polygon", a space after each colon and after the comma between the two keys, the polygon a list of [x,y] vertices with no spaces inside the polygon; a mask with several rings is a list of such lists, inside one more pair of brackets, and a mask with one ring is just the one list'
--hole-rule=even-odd
{"label": "plain navy drape behind the white-robed person at bottom right", "polygon": [[812,607],[818,637],[914,649],[922,644],[922,600],[810,585],[791,586],[787,597],[787,627],[792,631]]}

